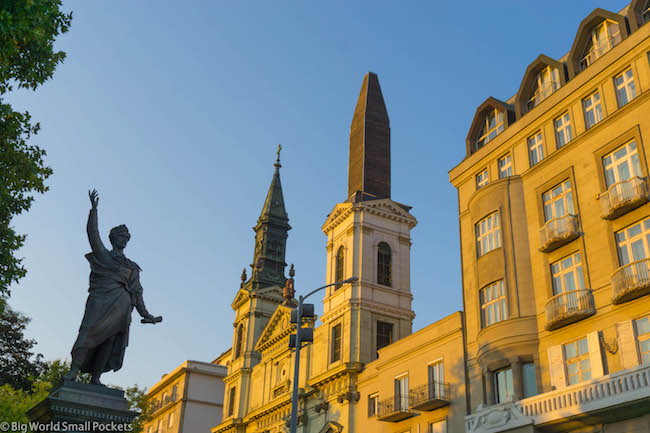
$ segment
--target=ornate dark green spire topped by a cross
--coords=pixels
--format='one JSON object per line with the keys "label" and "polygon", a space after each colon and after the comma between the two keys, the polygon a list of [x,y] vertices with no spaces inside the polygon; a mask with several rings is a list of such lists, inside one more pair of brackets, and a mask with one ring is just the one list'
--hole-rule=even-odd
{"label": "ornate dark green spire topped by a cross", "polygon": [[282,184],[280,183],[280,150],[278,146],[278,159],[275,162],[275,173],[271,180],[269,192],[262,213],[257,220],[255,230],[255,255],[253,257],[252,289],[280,286],[287,281],[284,276],[284,261],[287,247],[287,236],[291,226],[289,217],[284,208]]}

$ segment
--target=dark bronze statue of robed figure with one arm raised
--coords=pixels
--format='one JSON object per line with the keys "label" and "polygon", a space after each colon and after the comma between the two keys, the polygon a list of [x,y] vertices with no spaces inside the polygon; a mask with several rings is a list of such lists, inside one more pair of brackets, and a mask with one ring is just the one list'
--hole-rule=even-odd
{"label": "dark bronze statue of robed figure with one arm raised", "polygon": [[122,368],[133,307],[143,317],[142,323],[155,324],[162,317],[154,317],[147,311],[142,299],[141,269],[124,256],[124,248],[131,238],[129,230],[125,225],[113,228],[108,235],[113,249],[107,250],[97,226],[99,196],[96,190],[89,191],[88,196],[92,204],[87,230],[93,252],[86,254],[90,262],[90,288],[79,335],[72,348],[71,369],[64,379],[75,380],[81,371],[91,373],[91,383],[101,385],[102,373]]}

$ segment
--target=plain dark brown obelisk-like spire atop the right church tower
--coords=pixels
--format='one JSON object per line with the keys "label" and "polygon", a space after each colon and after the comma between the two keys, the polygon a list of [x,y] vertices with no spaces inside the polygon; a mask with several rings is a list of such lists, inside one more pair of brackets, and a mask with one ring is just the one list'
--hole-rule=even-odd
{"label": "plain dark brown obelisk-like spire atop the right church tower", "polygon": [[390,123],[377,74],[361,85],[350,128],[348,200],[390,198]]}

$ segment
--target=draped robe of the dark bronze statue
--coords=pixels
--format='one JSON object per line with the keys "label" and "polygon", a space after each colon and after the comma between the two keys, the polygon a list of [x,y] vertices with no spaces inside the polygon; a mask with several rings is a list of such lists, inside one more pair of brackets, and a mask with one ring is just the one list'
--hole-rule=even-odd
{"label": "draped robe of the dark bronze statue", "polygon": [[87,373],[96,369],[97,351],[113,336],[110,357],[102,372],[122,367],[129,344],[131,311],[134,306],[144,307],[138,265],[124,256],[107,253],[103,260],[93,253],[86,254],[91,269],[90,288],[72,358]]}

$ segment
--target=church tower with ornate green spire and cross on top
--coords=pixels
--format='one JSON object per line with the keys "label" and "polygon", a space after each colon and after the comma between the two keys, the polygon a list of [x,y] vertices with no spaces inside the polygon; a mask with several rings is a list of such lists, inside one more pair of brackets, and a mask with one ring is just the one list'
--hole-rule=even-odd
{"label": "church tower with ornate green spire and cross on top", "polygon": [[232,356],[228,364],[226,384],[226,406],[223,419],[230,418],[236,424],[248,410],[251,392],[251,370],[259,364],[260,353],[255,350],[262,331],[278,305],[285,299],[282,290],[287,281],[284,276],[287,236],[291,229],[284,207],[280,183],[280,150],[275,162],[275,172],[266,195],[262,213],[255,230],[255,252],[251,264],[251,276],[246,269],[232,309],[235,322]]}

